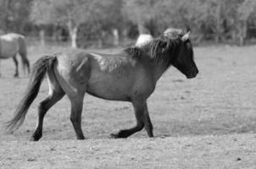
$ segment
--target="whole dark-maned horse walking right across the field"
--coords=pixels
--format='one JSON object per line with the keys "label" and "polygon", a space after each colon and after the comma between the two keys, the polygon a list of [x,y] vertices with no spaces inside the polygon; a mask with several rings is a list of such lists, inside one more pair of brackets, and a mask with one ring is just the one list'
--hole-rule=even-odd
{"label": "whole dark-maned horse walking right across the field", "polygon": [[7,131],[14,132],[24,122],[47,74],[49,94],[38,106],[38,119],[31,141],[42,137],[44,116],[64,95],[70,99],[70,121],[76,138],[85,139],[81,130],[81,112],[86,93],[105,100],[131,102],[136,125],[110,134],[111,138],[127,138],[142,128],[146,129],[148,137],[153,137],[147,98],[171,65],[185,74],[187,79],[197,76],[189,32],[160,35],[143,46],[131,46],[117,54],[76,49],[43,56],[34,63],[27,90],[14,117],[7,123]]}

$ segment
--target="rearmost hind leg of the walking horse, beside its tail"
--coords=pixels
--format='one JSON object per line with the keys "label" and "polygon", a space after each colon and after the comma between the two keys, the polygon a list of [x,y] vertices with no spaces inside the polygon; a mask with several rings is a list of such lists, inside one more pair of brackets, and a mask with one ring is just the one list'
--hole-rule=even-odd
{"label": "rearmost hind leg of the walking horse, beside its tail", "polygon": [[50,81],[48,79],[48,85],[49,85],[49,95],[45,100],[40,102],[38,106],[38,122],[36,125],[36,130],[34,134],[31,136],[31,141],[37,141],[42,137],[42,124],[43,124],[43,118],[47,111],[64,96],[64,90],[61,89],[61,87],[58,85],[58,82]]}

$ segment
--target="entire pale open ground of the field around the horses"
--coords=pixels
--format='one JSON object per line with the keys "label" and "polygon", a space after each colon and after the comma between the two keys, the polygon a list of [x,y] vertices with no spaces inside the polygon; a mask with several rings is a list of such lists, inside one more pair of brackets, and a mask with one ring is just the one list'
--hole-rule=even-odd
{"label": "entire pale open ground of the field around the horses", "polygon": [[[42,139],[27,142],[36,126],[37,105],[47,96],[47,82],[25,123],[5,134],[28,82],[14,79],[14,63],[4,60],[0,78],[0,168],[255,168],[256,46],[196,47],[200,74],[186,79],[170,68],[148,100],[155,139],[145,131],[129,139],[109,134],[135,124],[129,103],[86,95],[82,115],[84,141],[75,140],[67,97],[47,112]],[[31,63],[62,47],[29,48]],[[100,52],[116,52],[101,50]]]}

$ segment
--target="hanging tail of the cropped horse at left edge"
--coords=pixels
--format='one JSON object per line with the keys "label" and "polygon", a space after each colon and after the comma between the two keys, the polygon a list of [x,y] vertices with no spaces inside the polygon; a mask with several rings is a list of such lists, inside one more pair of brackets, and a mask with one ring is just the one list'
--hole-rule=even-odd
{"label": "hanging tail of the cropped horse at left edge", "polygon": [[19,55],[21,57],[23,70],[25,72],[25,68],[27,68],[28,73],[30,74],[31,68],[30,68],[30,62],[27,58],[27,50],[26,50],[26,44],[25,44],[25,37],[23,35],[20,35],[18,38],[19,42]]}

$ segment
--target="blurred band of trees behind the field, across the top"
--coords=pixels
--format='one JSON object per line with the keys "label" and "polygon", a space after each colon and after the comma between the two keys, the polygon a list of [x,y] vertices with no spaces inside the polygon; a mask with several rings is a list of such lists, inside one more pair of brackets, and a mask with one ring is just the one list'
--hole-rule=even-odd
{"label": "blurred band of trees behind the field, across the top", "polygon": [[255,0],[0,0],[0,33],[103,48],[189,26],[194,44],[243,46],[256,42],[255,9]]}

